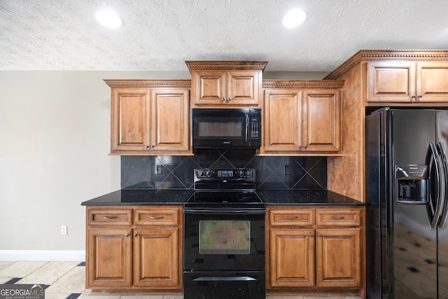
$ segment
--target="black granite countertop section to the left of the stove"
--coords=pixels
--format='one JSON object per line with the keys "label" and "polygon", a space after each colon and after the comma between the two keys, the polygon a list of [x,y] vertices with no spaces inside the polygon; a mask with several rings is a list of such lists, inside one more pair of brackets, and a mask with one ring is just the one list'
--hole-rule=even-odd
{"label": "black granite countertop section to the left of the stove", "polygon": [[183,204],[193,190],[122,189],[92,200],[82,202],[83,206],[113,205],[166,205]]}

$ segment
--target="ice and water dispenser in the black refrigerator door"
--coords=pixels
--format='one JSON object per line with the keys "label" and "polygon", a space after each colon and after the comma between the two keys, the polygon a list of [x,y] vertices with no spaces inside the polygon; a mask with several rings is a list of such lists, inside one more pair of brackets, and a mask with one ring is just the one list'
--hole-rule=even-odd
{"label": "ice and water dispenser in the black refrigerator door", "polygon": [[426,165],[395,166],[395,202],[426,204]]}

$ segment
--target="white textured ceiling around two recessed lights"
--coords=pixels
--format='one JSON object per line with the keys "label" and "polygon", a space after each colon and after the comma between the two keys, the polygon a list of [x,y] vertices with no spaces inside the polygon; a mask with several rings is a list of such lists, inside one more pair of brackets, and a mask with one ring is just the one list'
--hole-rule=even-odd
{"label": "white textured ceiling around two recessed lights", "polygon": [[[119,29],[94,18],[111,8]],[[307,20],[281,25],[290,8]],[[448,48],[447,0],[0,0],[0,70],[187,71],[266,60],[332,71],[358,50]]]}

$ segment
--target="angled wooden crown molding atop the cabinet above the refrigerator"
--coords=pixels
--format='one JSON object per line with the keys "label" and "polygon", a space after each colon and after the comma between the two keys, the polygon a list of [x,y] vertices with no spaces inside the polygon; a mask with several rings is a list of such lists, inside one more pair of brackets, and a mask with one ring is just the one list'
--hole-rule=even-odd
{"label": "angled wooden crown molding atop the cabinet above the refrigerator", "polygon": [[339,78],[346,71],[354,67],[358,62],[370,60],[447,60],[448,50],[360,50],[341,64],[337,69],[325,76],[323,80]]}

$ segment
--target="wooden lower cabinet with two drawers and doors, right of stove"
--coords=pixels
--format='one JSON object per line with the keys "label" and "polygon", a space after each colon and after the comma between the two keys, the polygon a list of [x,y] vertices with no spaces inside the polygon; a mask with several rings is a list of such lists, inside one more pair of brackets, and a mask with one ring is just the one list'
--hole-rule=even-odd
{"label": "wooden lower cabinet with two drawers and doors, right of stove", "polygon": [[268,207],[267,292],[364,297],[363,207]]}

